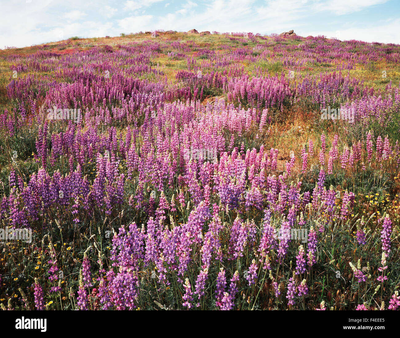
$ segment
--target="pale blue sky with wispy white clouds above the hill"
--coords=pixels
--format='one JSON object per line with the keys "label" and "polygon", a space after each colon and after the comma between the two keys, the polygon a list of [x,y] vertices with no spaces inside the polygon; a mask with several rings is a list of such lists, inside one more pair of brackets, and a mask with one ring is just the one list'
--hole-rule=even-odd
{"label": "pale blue sky with wispy white clouds above the hill", "polygon": [[325,35],[400,44],[399,0],[0,0],[0,48],[145,30]]}

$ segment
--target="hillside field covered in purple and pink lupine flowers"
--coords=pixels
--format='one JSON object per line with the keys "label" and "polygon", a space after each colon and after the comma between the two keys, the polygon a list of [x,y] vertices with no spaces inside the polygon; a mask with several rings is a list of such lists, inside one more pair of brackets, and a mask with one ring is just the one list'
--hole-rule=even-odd
{"label": "hillside field covered in purple and pink lupine flowers", "polygon": [[0,50],[0,306],[397,310],[400,45],[154,32]]}

